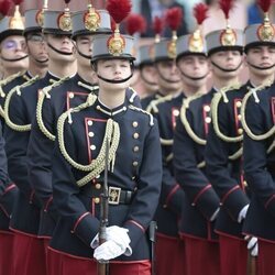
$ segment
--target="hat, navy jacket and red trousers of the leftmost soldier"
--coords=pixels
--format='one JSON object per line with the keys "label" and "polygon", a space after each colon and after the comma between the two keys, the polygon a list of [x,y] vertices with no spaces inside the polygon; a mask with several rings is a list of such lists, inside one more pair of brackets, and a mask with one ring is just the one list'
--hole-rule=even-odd
{"label": "hat, navy jacket and red trousers of the leftmost soldier", "polygon": [[[16,8],[15,8],[16,10]],[[15,21],[14,21],[15,20]],[[15,22],[15,23],[14,23]],[[4,16],[0,22],[0,42],[11,35],[23,35],[24,25],[19,13],[12,16]],[[25,55],[23,58],[26,58]],[[4,56],[1,57],[4,59]],[[10,62],[16,62],[12,59]],[[10,218],[12,216],[13,204],[16,199],[18,188],[8,176],[8,163],[4,152],[4,141],[2,132],[6,129],[4,124],[4,101],[9,91],[15,86],[20,86],[30,77],[29,73],[19,72],[0,80],[0,120],[1,120],[1,196],[0,196],[0,274],[13,275],[13,242],[14,234],[9,229]]]}

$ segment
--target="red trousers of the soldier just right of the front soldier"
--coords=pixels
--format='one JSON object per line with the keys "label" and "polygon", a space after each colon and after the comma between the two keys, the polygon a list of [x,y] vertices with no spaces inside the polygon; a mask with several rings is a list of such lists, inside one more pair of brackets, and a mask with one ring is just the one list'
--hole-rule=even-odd
{"label": "red trousers of the soldier just right of the front soldier", "polygon": [[184,241],[157,233],[156,275],[186,275],[185,261]]}

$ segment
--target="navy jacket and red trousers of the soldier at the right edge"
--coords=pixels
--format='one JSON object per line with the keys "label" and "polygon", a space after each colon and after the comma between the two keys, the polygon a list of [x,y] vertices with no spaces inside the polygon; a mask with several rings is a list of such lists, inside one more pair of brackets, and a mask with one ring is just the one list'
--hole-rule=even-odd
{"label": "navy jacket and red trousers of the soldier at the right edge", "polygon": [[274,85],[245,103],[244,172],[252,190],[243,232],[258,238],[258,273],[274,274]]}

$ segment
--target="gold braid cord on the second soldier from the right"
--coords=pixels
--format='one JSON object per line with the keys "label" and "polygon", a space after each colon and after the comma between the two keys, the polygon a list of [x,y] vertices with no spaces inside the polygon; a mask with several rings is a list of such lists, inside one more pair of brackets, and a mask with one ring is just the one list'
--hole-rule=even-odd
{"label": "gold braid cord on the second soldier from the right", "polygon": [[220,131],[219,128],[219,118],[218,118],[218,108],[219,108],[219,103],[221,98],[223,98],[223,101],[227,103],[228,102],[228,98],[226,92],[230,91],[230,90],[235,90],[235,89],[240,89],[241,86],[237,85],[237,86],[229,86],[229,87],[224,87],[222,88],[219,92],[217,92],[213,96],[213,99],[211,101],[211,111],[212,111],[212,123],[213,123],[213,129],[216,134],[224,142],[231,143],[231,142],[241,142],[243,140],[243,135],[239,135],[239,136],[227,136],[226,134],[223,134]]}

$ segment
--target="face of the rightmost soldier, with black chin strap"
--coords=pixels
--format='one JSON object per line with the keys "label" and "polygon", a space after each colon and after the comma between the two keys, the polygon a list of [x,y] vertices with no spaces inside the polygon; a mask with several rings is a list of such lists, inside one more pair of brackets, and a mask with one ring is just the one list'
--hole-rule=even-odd
{"label": "face of the rightmost soldier, with black chin strap", "polygon": [[275,73],[275,66],[270,69],[256,69],[250,67],[250,64],[261,67],[268,68],[275,64],[275,46],[256,46],[249,50],[245,57],[246,64],[250,72],[266,77]]}

